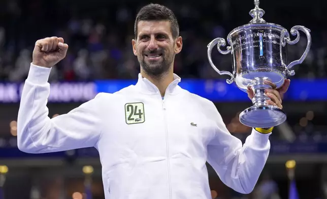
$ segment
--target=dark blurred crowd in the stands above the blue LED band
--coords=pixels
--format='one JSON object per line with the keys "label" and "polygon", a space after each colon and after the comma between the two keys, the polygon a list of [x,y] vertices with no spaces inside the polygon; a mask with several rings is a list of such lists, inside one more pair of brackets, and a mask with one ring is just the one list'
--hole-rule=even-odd
{"label": "dark blurred crowd in the stands above the blue LED band", "polygon": [[[139,8],[148,2],[89,1],[19,1],[0,3],[0,78],[2,81],[23,81],[27,76],[31,53],[38,39],[63,37],[70,48],[67,57],[52,69],[50,81],[87,81],[93,79],[137,78],[139,63],[132,51],[134,20]],[[159,1],[157,1],[160,3]],[[226,39],[228,32],[246,24],[253,3],[233,4],[228,0],[173,3],[165,1],[180,23],[183,50],[176,56],[175,73],[182,78],[222,78],[210,67],[207,44],[217,38]],[[263,5],[264,6],[264,5]],[[276,4],[276,6],[278,6]],[[245,10],[245,8],[248,8]],[[298,25],[299,13],[279,15],[272,5],[267,8],[268,22],[285,25],[288,30]],[[319,9],[319,8],[317,8]],[[321,8],[322,9],[322,8]],[[238,12],[242,11],[242,12]],[[283,10],[279,11],[283,12]],[[301,12],[301,11],[300,11]],[[237,13],[245,13],[237,16]],[[323,19],[323,12],[308,16]],[[268,20],[269,19],[269,20]],[[302,20],[302,19],[301,19]],[[302,24],[306,24],[303,21]],[[299,21],[299,24],[301,21]],[[302,25],[300,24],[300,25]],[[308,23],[312,48],[303,64],[296,66],[296,78],[327,77],[327,31]],[[308,26],[308,25],[306,25]],[[317,29],[314,29],[316,28]],[[314,31],[313,31],[314,30]],[[319,30],[319,31],[317,31]],[[304,34],[298,44],[289,46],[289,62],[301,57],[307,41]],[[216,49],[216,48],[214,48]],[[232,71],[231,55],[213,52],[214,63],[221,70]]]}

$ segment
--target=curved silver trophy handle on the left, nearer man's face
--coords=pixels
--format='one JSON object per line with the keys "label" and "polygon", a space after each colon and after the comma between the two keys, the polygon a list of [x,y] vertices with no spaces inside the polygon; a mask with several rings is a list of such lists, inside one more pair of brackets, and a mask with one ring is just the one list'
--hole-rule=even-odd
{"label": "curved silver trophy handle on the left, nearer man's face", "polygon": [[231,52],[231,46],[227,46],[227,50],[221,50],[220,49],[220,46],[225,46],[226,45],[226,42],[223,38],[216,38],[214,40],[212,40],[209,44],[208,44],[208,59],[209,59],[209,63],[211,65],[211,67],[219,74],[219,75],[229,75],[231,76],[231,79],[227,79],[226,82],[228,84],[232,84],[234,82],[234,77],[232,75],[232,73],[228,72],[228,71],[219,71],[217,69],[217,67],[215,66],[215,64],[213,64],[212,62],[212,59],[211,59],[211,51],[212,51],[212,48],[217,44],[217,48],[218,48],[218,51],[221,53],[221,54],[228,54]]}

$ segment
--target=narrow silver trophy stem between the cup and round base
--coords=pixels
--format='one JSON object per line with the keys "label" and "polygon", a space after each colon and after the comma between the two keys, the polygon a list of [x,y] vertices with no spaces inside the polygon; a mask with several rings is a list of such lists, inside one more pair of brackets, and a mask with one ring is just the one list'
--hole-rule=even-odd
{"label": "narrow silver trophy stem between the cup and round base", "polygon": [[255,78],[251,89],[253,90],[254,97],[252,103],[254,106],[266,106],[267,100],[270,100],[265,94],[265,89],[271,89],[272,87],[268,84],[264,84],[264,81],[268,78]]}

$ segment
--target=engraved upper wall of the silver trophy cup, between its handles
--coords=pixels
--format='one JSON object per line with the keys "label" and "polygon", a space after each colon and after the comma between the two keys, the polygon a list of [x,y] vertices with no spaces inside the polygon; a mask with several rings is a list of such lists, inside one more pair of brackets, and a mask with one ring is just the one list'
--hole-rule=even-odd
{"label": "engraved upper wall of the silver trophy cup, between its handles", "polygon": [[280,36],[280,30],[269,27],[235,33],[230,44],[236,73],[255,72],[255,75],[260,75],[257,72],[268,71],[283,73],[287,50],[286,46],[281,48]]}

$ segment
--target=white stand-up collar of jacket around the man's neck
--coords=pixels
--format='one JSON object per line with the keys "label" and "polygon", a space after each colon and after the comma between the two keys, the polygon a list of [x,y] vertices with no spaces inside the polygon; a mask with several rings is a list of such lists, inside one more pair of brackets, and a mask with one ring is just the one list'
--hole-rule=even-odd
{"label": "white stand-up collar of jacket around the man's neck", "polygon": [[[178,83],[180,81],[181,78],[174,73],[174,80],[168,85],[166,94],[167,93],[177,94],[178,91],[180,90],[180,87],[178,86]],[[138,82],[136,83],[136,87],[138,87],[140,91],[143,93],[148,93],[148,94],[160,93],[159,89],[147,78],[142,77],[141,73],[139,73],[139,79]]]}

